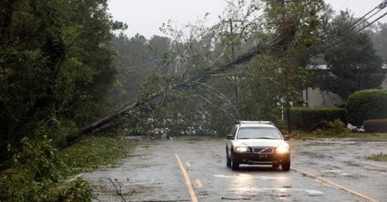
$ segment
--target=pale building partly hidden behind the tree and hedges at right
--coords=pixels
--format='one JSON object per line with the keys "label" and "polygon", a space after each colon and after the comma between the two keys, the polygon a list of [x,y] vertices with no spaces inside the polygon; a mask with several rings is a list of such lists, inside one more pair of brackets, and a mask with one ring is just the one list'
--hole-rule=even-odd
{"label": "pale building partly hidden behind the tree and hedges at right", "polygon": [[[327,69],[326,65],[316,66],[318,69]],[[384,75],[386,75],[384,81],[381,84],[381,89],[387,89],[387,64],[382,66],[384,69]],[[305,104],[302,107],[338,107],[345,104],[345,101],[340,98],[336,93],[321,91],[320,89],[307,88],[302,90],[302,100]],[[301,107],[301,106],[300,106]]]}

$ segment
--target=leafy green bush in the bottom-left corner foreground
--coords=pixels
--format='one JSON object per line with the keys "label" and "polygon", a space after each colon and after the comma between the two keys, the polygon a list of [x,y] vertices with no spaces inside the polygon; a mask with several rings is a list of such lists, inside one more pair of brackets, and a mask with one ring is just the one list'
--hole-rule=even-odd
{"label": "leafy green bush in the bottom-left corner foreground", "polygon": [[51,140],[22,139],[14,152],[12,169],[0,173],[0,201],[91,201],[92,189],[82,179],[61,185],[65,166]]}

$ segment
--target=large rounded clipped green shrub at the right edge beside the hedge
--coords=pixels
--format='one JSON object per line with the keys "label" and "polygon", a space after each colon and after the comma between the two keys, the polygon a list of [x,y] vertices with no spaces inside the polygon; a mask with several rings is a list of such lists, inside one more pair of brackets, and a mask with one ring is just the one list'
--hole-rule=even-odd
{"label": "large rounded clipped green shrub at the right edge beside the hedge", "polygon": [[387,118],[387,90],[368,89],[353,93],[345,105],[345,118],[356,126],[365,120]]}

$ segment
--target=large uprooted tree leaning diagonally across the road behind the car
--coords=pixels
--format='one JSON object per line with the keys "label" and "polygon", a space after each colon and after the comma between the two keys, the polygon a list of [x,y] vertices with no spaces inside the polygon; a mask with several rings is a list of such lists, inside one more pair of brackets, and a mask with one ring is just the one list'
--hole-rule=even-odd
{"label": "large uprooted tree leaning diagonally across the road behind the car", "polygon": [[[331,14],[322,0],[229,1],[218,24],[190,24],[188,37],[164,24],[162,30],[172,37],[171,50],[157,62],[157,73],[142,86],[137,100],[83,127],[75,138],[121,116],[137,116],[139,109],[151,111],[148,118],[158,115],[159,122],[183,120],[187,114],[169,110],[179,103],[187,112],[197,113],[202,125],[214,118],[209,108],[230,120],[278,120],[277,104],[283,100],[289,109],[298,87],[307,81],[305,66],[327,37],[324,26]],[[230,20],[236,21],[234,33],[224,23]],[[241,95],[235,96],[240,100],[232,100],[234,89],[239,89]]]}

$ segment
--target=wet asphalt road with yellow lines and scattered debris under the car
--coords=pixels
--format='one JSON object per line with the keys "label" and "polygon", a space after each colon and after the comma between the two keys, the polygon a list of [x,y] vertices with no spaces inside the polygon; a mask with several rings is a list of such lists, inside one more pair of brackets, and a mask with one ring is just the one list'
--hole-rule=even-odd
{"label": "wet asphalt road with yellow lines and scattered debris under the car", "polygon": [[387,201],[387,163],[364,158],[386,154],[387,142],[289,144],[289,172],[243,165],[232,171],[225,140],[159,140],[141,142],[121,163],[82,177],[94,201],[123,201],[120,187],[126,201]]}

